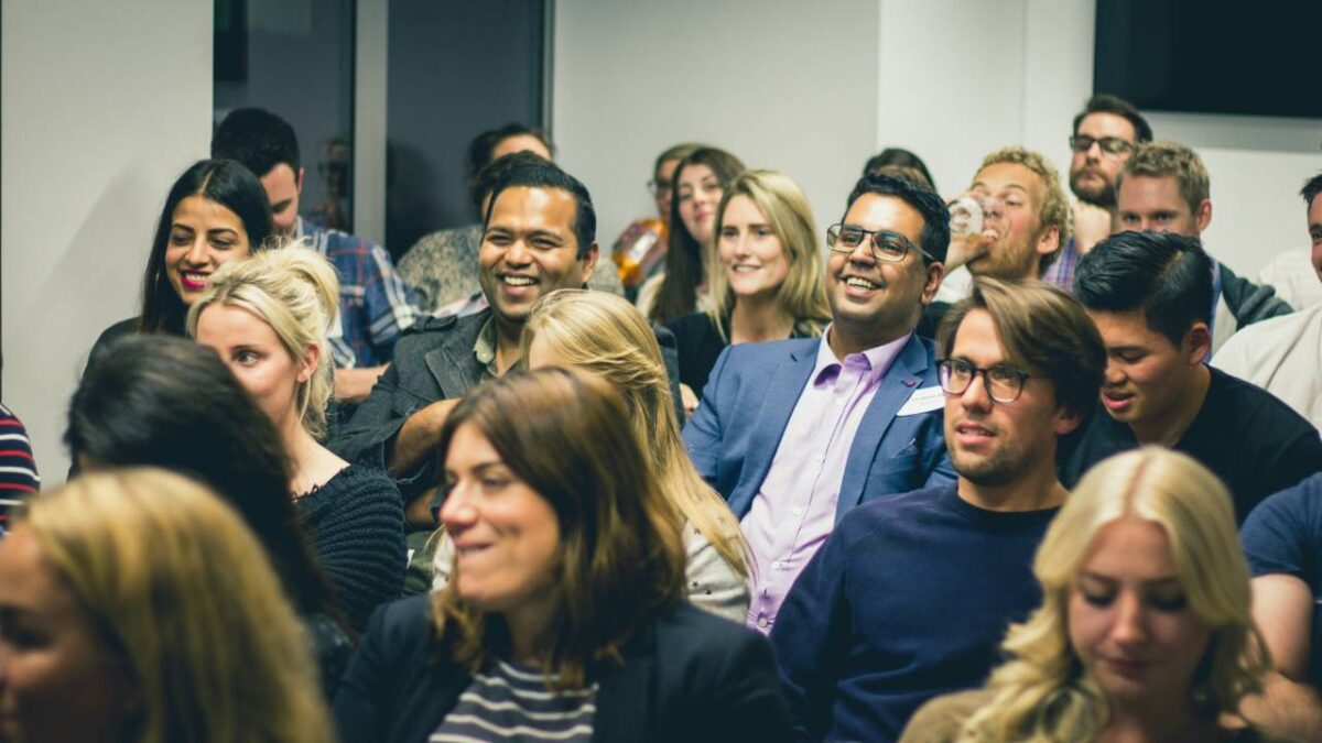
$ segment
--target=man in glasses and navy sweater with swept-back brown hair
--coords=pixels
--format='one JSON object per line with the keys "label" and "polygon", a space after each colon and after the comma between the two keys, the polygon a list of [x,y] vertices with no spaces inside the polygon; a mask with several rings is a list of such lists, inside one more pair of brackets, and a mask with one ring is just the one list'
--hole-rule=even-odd
{"label": "man in glasses and navy sweater with swept-back brown hair", "polygon": [[1056,439],[1107,357],[1059,290],[977,278],[941,325],[953,485],[845,514],[771,633],[800,739],[895,740],[925,701],[982,684],[1042,600],[1032,555],[1068,493]]}

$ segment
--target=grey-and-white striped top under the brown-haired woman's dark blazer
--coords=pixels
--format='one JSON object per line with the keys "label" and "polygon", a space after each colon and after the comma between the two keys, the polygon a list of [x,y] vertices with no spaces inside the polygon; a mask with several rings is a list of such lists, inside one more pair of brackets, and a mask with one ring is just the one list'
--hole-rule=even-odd
{"label": "grey-and-white striped top under the brown-haired woman's dark blazer", "polygon": [[539,669],[497,661],[473,677],[430,743],[592,739],[596,684],[553,691]]}

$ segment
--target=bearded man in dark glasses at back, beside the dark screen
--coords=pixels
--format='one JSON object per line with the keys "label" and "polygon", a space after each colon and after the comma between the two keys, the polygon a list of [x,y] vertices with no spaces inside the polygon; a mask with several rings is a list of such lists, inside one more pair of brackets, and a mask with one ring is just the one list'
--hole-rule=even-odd
{"label": "bearded man in dark glasses at back, beside the dark screen", "polygon": [[1073,205],[1073,239],[1060,249],[1042,280],[1071,291],[1079,256],[1110,234],[1116,221],[1116,173],[1134,148],[1151,141],[1147,120],[1128,100],[1099,93],[1075,116],[1069,136],[1069,190]]}

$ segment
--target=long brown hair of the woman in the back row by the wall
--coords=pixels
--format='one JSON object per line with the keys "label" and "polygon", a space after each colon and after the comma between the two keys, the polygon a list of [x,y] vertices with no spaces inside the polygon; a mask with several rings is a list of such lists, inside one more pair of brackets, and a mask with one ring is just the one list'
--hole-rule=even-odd
{"label": "long brown hair of the woman in the back row by the wall", "polygon": [[743,172],[744,164],[734,155],[715,147],[703,147],[693,151],[691,155],[680,161],[674,169],[676,196],[670,200],[670,233],[669,246],[665,254],[665,278],[661,288],[657,290],[656,303],[652,305],[648,319],[654,323],[669,323],[681,315],[693,312],[698,307],[698,284],[707,275],[706,249],[689,234],[680,218],[680,176],[685,168],[691,165],[706,165],[720,181],[724,189],[735,176]]}

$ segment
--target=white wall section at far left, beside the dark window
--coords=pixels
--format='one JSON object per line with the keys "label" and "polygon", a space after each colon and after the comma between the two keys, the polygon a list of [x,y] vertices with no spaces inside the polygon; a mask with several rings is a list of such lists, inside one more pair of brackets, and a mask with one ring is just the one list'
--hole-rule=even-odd
{"label": "white wall section at far left, beside the dark window", "polygon": [[50,485],[87,350],[134,313],[165,192],[206,156],[212,3],[4,0],[0,25],[3,394]]}

